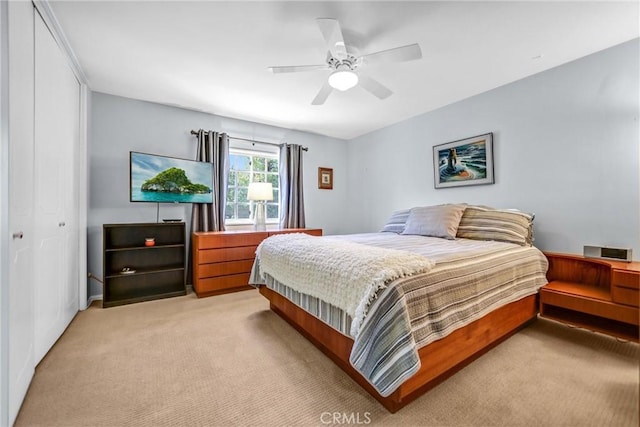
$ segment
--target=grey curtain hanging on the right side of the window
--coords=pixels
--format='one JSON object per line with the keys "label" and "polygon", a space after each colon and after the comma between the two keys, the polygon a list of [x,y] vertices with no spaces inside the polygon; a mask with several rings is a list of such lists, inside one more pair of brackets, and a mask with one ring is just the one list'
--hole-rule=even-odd
{"label": "grey curtain hanging on the right side of the window", "polygon": [[302,146],[280,146],[280,228],[304,228]]}

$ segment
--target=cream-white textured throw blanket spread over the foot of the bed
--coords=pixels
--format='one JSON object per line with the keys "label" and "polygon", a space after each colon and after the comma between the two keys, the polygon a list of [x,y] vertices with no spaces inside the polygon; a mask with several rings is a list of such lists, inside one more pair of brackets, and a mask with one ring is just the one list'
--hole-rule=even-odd
{"label": "cream-white textured throw blanket spread over the foot of the bed", "polygon": [[[400,277],[428,272],[435,262],[409,251],[313,237],[302,233],[265,239],[256,256],[260,275],[320,298],[347,312],[356,337],[378,290]],[[304,268],[291,268],[303,265]]]}

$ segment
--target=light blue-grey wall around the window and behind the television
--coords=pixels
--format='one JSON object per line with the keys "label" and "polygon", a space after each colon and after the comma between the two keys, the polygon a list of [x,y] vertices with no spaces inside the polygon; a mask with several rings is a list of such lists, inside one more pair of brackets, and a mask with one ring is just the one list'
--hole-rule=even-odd
{"label": "light blue-grey wall around the window and behind the television", "polygon": [[[212,129],[240,138],[308,147],[304,155],[307,226],[322,228],[325,234],[349,231],[343,220],[347,205],[347,145],[343,140],[98,92],[91,97],[90,128],[87,257],[88,271],[99,278],[102,225],[156,221],[156,204],[129,202],[129,151],[192,159],[196,138],[190,134],[191,129]],[[318,189],[320,166],[334,170],[331,191]],[[182,218],[189,222],[191,218],[190,204],[161,204],[159,210],[160,219]],[[91,280],[88,295],[101,294],[101,285]]]}

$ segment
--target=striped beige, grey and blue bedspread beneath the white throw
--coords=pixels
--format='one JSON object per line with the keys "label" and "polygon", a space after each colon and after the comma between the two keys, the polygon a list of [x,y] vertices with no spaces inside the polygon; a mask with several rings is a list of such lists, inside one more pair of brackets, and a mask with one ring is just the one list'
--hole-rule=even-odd
{"label": "striped beige, grey and blue bedspread beneath the white throw", "polygon": [[395,233],[325,236],[408,250],[436,265],[428,273],[400,278],[380,291],[357,336],[344,311],[269,275],[260,277],[256,257],[252,283],[266,284],[354,339],[350,362],[388,396],[420,369],[418,350],[503,305],[538,292],[547,260],[533,247],[468,239],[445,240]]}

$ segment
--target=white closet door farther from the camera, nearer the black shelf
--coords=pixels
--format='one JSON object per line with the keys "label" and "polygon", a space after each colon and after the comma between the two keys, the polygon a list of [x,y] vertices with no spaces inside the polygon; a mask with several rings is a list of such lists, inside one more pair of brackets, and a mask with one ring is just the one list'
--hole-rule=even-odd
{"label": "white closet door farther from the camera, nearer the black shelf", "polygon": [[35,362],[78,311],[80,85],[35,19]]}

